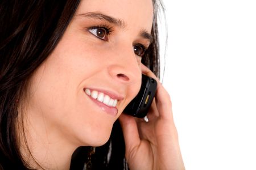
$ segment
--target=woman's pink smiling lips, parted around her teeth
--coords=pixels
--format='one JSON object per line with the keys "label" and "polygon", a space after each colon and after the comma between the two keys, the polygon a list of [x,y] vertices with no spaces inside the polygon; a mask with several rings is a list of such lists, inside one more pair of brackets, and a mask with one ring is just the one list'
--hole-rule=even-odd
{"label": "woman's pink smiling lips, parted around her teeth", "polygon": [[[88,89],[88,88],[84,88],[84,92],[85,90],[90,90],[91,92],[94,91],[92,89]],[[112,92],[106,92],[106,91],[101,91],[101,90],[95,90],[95,91],[98,91],[99,93],[103,93],[104,95],[108,95],[110,96],[112,99],[115,99],[115,100],[122,100],[123,97],[122,96],[118,96],[118,95],[115,95],[113,94]],[[86,96],[88,96],[95,104],[98,105],[98,107],[100,107],[104,112],[112,115],[112,116],[116,116],[117,113],[118,113],[118,109],[117,107],[113,107],[111,105],[106,105],[104,103],[102,103],[102,101],[98,101],[97,99],[95,99],[94,97],[90,96],[90,94],[86,93]]]}

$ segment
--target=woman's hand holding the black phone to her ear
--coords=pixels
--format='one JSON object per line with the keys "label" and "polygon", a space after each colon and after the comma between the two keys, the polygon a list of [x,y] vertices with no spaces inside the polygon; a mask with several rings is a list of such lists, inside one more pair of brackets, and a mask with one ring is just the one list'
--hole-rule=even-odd
{"label": "woman's hand holding the black phone to her ear", "polygon": [[181,157],[177,130],[172,117],[172,104],[168,92],[146,66],[142,73],[158,81],[155,99],[147,114],[149,122],[121,114],[126,159],[131,170],[185,169]]}

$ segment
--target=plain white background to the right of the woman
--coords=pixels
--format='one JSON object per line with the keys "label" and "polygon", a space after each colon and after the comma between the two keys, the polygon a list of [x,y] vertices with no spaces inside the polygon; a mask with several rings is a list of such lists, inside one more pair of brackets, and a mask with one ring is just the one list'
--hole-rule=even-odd
{"label": "plain white background to the right of the woman", "polygon": [[163,2],[163,84],[186,169],[256,169],[256,1]]}

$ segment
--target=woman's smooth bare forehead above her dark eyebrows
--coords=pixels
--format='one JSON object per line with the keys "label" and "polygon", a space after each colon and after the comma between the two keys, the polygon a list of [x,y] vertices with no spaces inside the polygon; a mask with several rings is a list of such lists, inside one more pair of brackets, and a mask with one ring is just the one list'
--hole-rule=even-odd
{"label": "woman's smooth bare forehead above her dark eyebrows", "polygon": [[76,15],[101,12],[122,20],[128,28],[151,30],[152,0],[82,0]]}

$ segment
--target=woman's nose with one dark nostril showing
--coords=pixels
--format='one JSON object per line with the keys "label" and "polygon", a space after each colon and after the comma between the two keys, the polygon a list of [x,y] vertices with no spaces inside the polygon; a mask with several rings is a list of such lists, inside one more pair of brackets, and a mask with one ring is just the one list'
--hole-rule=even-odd
{"label": "woman's nose with one dark nostril showing", "polygon": [[138,82],[141,79],[141,61],[134,54],[133,48],[113,51],[112,62],[108,66],[110,76],[121,83]]}

